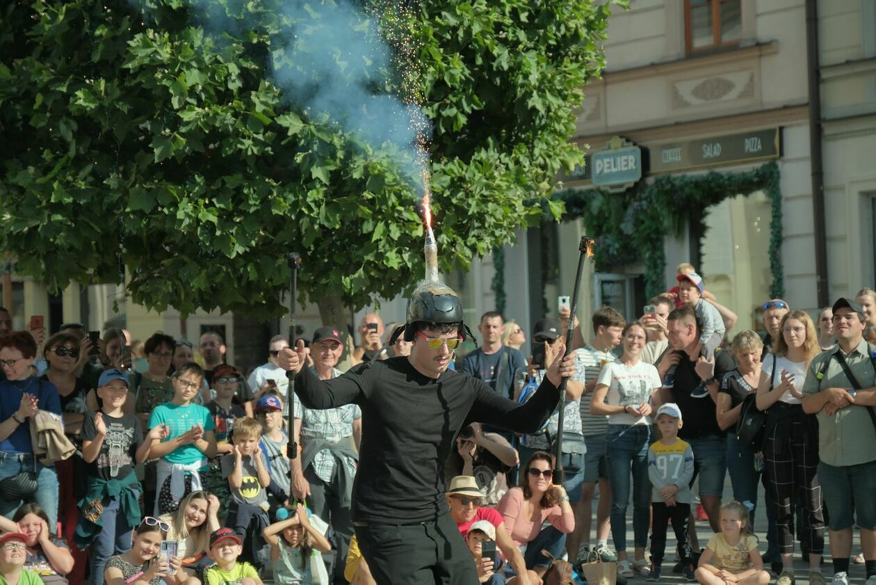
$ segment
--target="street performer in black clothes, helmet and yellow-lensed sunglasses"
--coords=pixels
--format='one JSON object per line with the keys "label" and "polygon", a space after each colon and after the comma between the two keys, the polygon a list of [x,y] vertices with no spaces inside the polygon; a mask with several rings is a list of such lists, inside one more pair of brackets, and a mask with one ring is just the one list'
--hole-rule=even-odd
{"label": "street performer in black clothes, helmet and yellow-lensed sunglasses", "polygon": [[[380,585],[477,582],[474,561],[449,517],[445,497],[443,469],[456,436],[472,422],[535,432],[558,403],[562,377],[575,371],[571,357],[554,360],[526,404],[449,371],[453,350],[466,332],[462,306],[449,292],[414,293],[405,328],[405,338],[413,341],[409,356],[371,361],[321,381],[303,365],[303,346],[279,355],[280,367],[296,372],[295,393],[308,408],[357,403],[362,409],[351,515]],[[529,585],[526,575],[520,577]]]}

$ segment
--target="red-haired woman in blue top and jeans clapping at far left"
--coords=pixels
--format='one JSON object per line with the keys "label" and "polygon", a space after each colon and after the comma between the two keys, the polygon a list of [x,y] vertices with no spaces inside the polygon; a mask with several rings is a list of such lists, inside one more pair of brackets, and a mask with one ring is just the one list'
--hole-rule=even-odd
{"label": "red-haired woman in blue top and jeans clapping at far left", "polygon": [[60,415],[58,389],[32,375],[37,344],[29,332],[0,338],[0,514],[6,517],[25,501],[36,500],[49,525],[58,520],[58,475],[33,456],[29,420],[38,409]]}

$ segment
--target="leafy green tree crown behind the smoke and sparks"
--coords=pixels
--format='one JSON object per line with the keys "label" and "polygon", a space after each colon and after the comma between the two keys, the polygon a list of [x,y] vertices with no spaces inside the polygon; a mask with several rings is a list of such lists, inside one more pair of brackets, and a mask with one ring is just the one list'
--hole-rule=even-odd
{"label": "leafy green tree crown behind the smoke and sparks", "polygon": [[[307,266],[301,299],[323,308],[418,280],[421,193],[406,154],[277,83],[300,75],[285,58],[291,32],[320,25],[307,1],[309,22],[284,16],[282,0],[4,4],[0,250],[18,273],[62,289],[119,282],[124,266],[132,300],[153,310],[256,317],[282,312],[290,251]],[[413,69],[378,72],[371,90],[418,84],[406,91],[432,124],[442,269],[467,267],[544,209],[558,218],[549,196],[557,172],[582,162],[569,137],[581,88],[604,65],[610,9],[430,0],[389,18],[385,2],[364,4],[414,47]]]}

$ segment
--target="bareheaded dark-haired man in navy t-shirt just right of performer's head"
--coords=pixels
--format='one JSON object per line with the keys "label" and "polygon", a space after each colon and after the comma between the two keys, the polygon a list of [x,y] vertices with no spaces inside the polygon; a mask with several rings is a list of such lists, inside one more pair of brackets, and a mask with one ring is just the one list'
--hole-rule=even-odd
{"label": "bareheaded dark-haired man in navy t-shirt just right of performer's head", "polygon": [[483,336],[483,345],[463,358],[460,371],[483,380],[499,396],[514,396],[514,379],[526,368],[523,354],[513,347],[502,345],[502,314],[487,311],[481,317],[477,331]]}

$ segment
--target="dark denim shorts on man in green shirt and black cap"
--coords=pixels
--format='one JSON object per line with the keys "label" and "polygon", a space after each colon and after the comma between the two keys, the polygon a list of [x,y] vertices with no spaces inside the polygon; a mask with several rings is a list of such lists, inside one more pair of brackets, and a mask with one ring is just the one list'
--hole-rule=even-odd
{"label": "dark denim shorts on man in green shirt and black cap", "polygon": [[818,464],[818,482],[830,510],[831,531],[854,524],[864,530],[876,530],[876,461],[844,467],[822,461]]}

